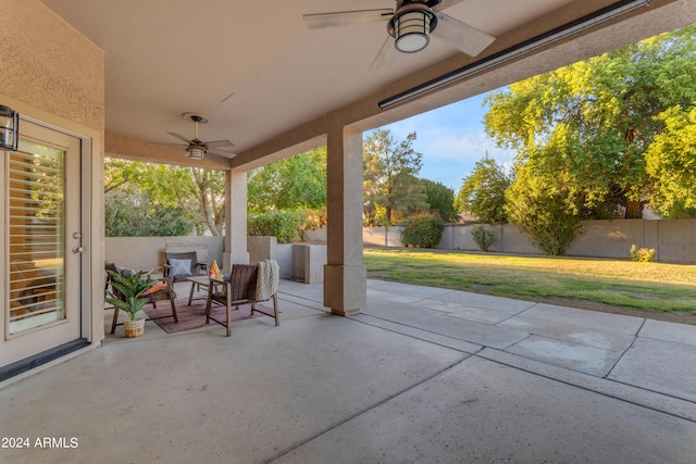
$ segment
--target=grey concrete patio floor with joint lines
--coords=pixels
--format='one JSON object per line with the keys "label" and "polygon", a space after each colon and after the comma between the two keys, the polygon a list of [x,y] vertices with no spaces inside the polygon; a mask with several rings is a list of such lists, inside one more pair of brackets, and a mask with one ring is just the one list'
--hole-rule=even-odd
{"label": "grey concrete patio floor with joint lines", "polygon": [[0,444],[29,439],[0,462],[696,462],[696,326],[368,285],[355,317],[284,280],[279,327],[120,327],[0,384]]}

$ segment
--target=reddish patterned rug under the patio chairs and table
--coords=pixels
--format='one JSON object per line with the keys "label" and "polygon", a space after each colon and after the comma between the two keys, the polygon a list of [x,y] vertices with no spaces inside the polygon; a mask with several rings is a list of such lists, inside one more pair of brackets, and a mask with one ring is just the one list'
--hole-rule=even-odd
{"label": "reddish patterned rug under the patio chairs and table", "polygon": [[[157,308],[152,308],[151,304],[148,304],[147,308],[144,309],[145,313],[148,317],[160,317],[169,315],[170,317],[164,317],[161,319],[153,321],[157,325],[162,327],[164,331],[167,334],[174,334],[177,331],[190,330],[199,327],[206,326],[206,300],[194,300],[192,304],[188,305],[188,298],[186,299],[177,299],[176,303],[176,315],[178,317],[178,323],[174,322],[174,317],[172,315],[172,306],[169,301],[158,301]],[[261,311],[273,312],[273,310],[264,306],[263,304],[257,304]],[[212,316],[219,321],[225,321],[225,306],[215,306],[212,308]],[[253,316],[251,313],[251,304],[240,304],[239,310],[232,311],[232,321],[233,325],[235,321],[249,319],[254,317],[261,317],[263,314],[256,313]],[[268,317],[268,316],[266,316]],[[224,330],[224,327],[215,324],[214,322],[210,322],[208,327],[219,327]]]}

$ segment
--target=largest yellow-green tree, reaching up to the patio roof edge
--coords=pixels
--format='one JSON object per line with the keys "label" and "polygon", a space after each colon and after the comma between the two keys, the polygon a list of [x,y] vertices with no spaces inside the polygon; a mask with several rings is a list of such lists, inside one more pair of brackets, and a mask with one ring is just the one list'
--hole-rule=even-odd
{"label": "largest yellow-green tree, reaching up to the patio roof edge", "polygon": [[642,217],[654,186],[645,153],[664,129],[655,116],[696,101],[695,35],[685,27],[512,84],[486,99],[486,131],[549,174],[576,214],[619,205]]}

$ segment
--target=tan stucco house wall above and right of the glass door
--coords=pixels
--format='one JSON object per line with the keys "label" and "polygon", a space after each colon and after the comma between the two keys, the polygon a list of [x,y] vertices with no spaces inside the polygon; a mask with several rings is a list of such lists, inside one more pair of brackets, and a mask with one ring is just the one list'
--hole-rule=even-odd
{"label": "tan stucco house wall above and right of the glass door", "polygon": [[[83,185],[82,244],[88,261],[83,268],[103,269],[103,51],[38,0],[1,0],[0,11],[0,104],[22,118],[76,134],[89,147],[83,153],[89,180]],[[0,258],[7,261],[2,252]],[[91,309],[82,336],[98,343],[103,338],[102,271],[85,273],[82,284],[89,289],[84,310]]]}

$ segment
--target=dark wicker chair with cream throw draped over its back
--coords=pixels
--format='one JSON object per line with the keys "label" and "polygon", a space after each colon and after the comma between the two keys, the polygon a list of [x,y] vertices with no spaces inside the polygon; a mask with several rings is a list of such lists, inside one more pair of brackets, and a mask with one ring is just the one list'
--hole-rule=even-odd
{"label": "dark wicker chair with cream throw draped over its back", "polygon": [[[260,291],[259,286],[259,267],[262,263],[257,265],[250,264],[233,264],[232,273],[228,278],[224,279],[210,279],[210,286],[208,287],[208,302],[206,304],[206,324],[213,321],[227,328],[227,337],[232,335],[232,311],[233,306],[235,311],[239,310],[240,304],[251,303],[251,315],[254,312],[264,314],[266,316],[275,318],[275,325],[281,325],[278,317],[278,297],[277,297],[277,283],[278,283],[278,267],[275,261],[266,261],[272,266],[274,275],[270,277],[269,287]],[[261,277],[269,278],[269,277]],[[217,291],[220,289],[221,291]],[[256,303],[261,301],[273,300],[273,313],[268,313],[257,309]],[[226,321],[216,319],[211,315],[212,304],[219,304],[226,308]]]}

